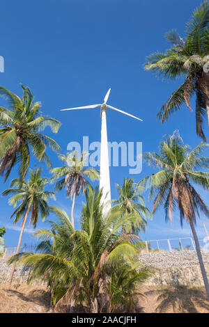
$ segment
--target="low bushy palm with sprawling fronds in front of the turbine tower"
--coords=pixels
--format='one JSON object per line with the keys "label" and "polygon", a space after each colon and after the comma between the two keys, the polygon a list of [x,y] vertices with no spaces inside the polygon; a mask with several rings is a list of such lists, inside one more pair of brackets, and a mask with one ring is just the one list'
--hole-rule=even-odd
{"label": "low bushy palm with sprawling fronds in front of the turbine tower", "polygon": [[[139,250],[130,237],[119,234],[121,224],[130,226],[132,217],[121,219],[121,214],[116,211],[102,216],[102,191],[98,191],[98,188],[89,186],[85,195],[81,230],[72,227],[66,212],[53,207],[56,223],[49,221],[49,230],[35,232],[40,240],[38,250],[42,250],[42,253],[20,253],[10,260],[10,263],[18,260],[31,266],[30,282],[42,276],[47,278],[52,303],[56,304],[57,310],[70,307],[70,312],[73,312],[72,307],[76,303],[85,303],[91,312],[101,312],[101,291],[105,294],[108,310],[109,296],[112,294],[109,281],[119,265],[121,269],[128,267],[130,278],[134,274],[134,280],[150,276],[148,271],[141,269],[136,277],[139,262],[136,264],[134,256]],[[112,296],[112,301],[116,306],[116,294]]]}

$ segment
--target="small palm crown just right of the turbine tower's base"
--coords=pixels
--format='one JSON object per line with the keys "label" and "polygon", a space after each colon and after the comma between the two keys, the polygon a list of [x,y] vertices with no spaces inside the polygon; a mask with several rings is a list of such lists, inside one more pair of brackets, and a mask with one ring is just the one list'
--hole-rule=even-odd
{"label": "small palm crown just right of the turbine tower's base", "polygon": [[[146,219],[150,218],[150,210],[146,207],[144,197],[140,194],[140,187],[134,183],[132,178],[126,178],[123,180],[123,185],[120,187],[116,184],[118,189],[118,200],[112,200],[115,204],[114,208],[121,210],[122,215],[132,214],[137,217],[137,225],[132,225],[130,228],[131,234],[138,234],[140,230],[145,231]],[[124,231],[124,229],[123,229]]]}

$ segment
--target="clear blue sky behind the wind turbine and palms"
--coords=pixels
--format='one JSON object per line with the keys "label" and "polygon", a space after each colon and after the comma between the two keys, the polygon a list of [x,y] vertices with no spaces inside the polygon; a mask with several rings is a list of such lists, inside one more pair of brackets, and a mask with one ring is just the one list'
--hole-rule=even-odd
{"label": "clear blue sky behind the wind turbine and palms", "polygon": [[[61,120],[58,134],[47,128],[45,134],[53,136],[66,152],[70,141],[100,141],[100,111],[61,112],[59,109],[100,103],[111,87],[109,103],[139,116],[144,122],[109,111],[107,114],[109,141],[142,141],[144,151],[157,151],[164,134],[179,129],[185,143],[194,147],[199,143],[195,134],[194,112],[184,106],[165,125],[156,119],[160,106],[180,81],[167,82],[145,72],[146,56],[164,51],[169,46],[164,33],[177,29],[184,36],[185,22],[199,5],[194,0],[36,0],[3,1],[1,3],[1,50],[5,59],[5,72],[0,73],[0,84],[22,95],[20,83],[29,86],[42,111]],[[0,104],[5,105],[3,99]],[[194,101],[192,102],[194,106]],[[208,128],[206,127],[208,136]],[[54,166],[60,161],[49,151]],[[33,166],[34,161],[31,161]],[[111,196],[116,198],[115,184],[128,177],[125,167],[110,168]],[[43,172],[49,176],[45,169]],[[136,181],[153,170],[143,166]],[[15,177],[13,171],[10,178]],[[8,187],[1,179],[0,191]],[[202,193],[209,205],[208,195]],[[6,225],[6,244],[15,246],[19,231],[14,230],[10,214],[13,207],[7,198],[0,198],[0,225]],[[84,197],[77,198],[75,216]],[[55,204],[51,202],[51,204]],[[151,207],[151,202],[147,202]],[[56,205],[70,212],[71,202],[65,191],[57,194]],[[180,228],[178,213],[172,225],[164,223],[164,212],[159,211],[149,222],[143,239],[164,239],[189,236],[189,226]],[[205,237],[201,221],[199,237]],[[46,227],[38,223],[38,228]],[[17,226],[16,226],[17,227]],[[16,228],[15,227],[15,228]],[[20,228],[20,225],[18,225]],[[27,226],[28,228],[28,226]],[[33,244],[31,230],[24,233],[22,244]]]}

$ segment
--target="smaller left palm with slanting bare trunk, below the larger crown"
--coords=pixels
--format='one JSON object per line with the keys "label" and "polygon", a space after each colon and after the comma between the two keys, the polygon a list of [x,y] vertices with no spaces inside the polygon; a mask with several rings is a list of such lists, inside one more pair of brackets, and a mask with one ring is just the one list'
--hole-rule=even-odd
{"label": "smaller left palm with slanting bare trunk, below the larger crown", "polygon": [[[6,189],[2,193],[3,196],[13,195],[9,199],[9,204],[13,205],[13,207],[16,207],[17,202],[21,201],[20,205],[18,205],[17,209],[15,209],[15,212],[13,212],[12,216],[10,217],[13,218],[13,216],[15,216],[15,224],[22,218],[22,228],[17,244],[16,254],[19,253],[20,250],[22,234],[24,232],[26,220],[29,214],[31,214],[29,224],[32,223],[34,228],[36,228],[39,214],[41,215],[42,221],[45,220],[49,214],[48,199],[55,199],[55,196],[53,192],[45,191],[46,185],[47,177],[41,177],[41,168],[34,168],[34,170],[30,169],[28,182],[22,181],[21,178],[16,178],[10,183],[10,189]],[[15,262],[10,274],[9,285],[12,283],[14,272]]]}

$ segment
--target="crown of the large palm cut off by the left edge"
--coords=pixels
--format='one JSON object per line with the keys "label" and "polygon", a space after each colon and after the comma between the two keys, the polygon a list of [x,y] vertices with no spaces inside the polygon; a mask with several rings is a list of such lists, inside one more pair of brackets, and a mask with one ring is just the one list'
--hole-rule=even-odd
{"label": "crown of the large palm cut off by the left edge", "polygon": [[44,117],[40,113],[40,102],[33,102],[33,95],[29,88],[22,84],[23,96],[0,86],[0,95],[5,97],[10,109],[0,106],[0,175],[5,181],[15,163],[20,163],[20,177],[24,180],[30,162],[30,147],[39,161],[45,161],[52,166],[46,147],[60,150],[59,145],[49,136],[40,134],[45,126],[51,127],[55,133],[60,127],[60,122],[54,118]]}

